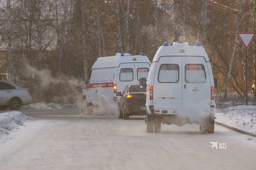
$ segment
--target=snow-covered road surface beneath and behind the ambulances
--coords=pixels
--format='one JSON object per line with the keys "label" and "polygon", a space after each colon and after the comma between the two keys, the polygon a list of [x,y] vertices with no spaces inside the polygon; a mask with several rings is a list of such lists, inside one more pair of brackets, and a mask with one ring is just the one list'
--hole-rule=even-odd
{"label": "snow-covered road surface beneath and behind the ambulances", "polygon": [[[1,170],[256,169],[256,138],[218,125],[214,134],[200,134],[199,125],[162,125],[157,134],[147,133],[138,116],[83,116],[77,109],[21,112],[47,120],[27,123],[20,129],[23,137],[14,134],[11,143],[0,144]],[[209,141],[225,142],[227,149],[211,150]]]}

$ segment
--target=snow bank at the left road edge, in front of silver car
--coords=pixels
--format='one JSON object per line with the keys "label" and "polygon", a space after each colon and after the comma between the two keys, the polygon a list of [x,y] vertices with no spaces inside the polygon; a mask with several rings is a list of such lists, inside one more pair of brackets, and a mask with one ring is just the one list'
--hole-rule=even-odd
{"label": "snow bank at the left road edge, in front of silver car", "polygon": [[19,126],[24,125],[24,122],[31,120],[37,119],[26,116],[19,111],[0,113],[0,137],[4,134],[10,134],[10,131],[18,129]]}

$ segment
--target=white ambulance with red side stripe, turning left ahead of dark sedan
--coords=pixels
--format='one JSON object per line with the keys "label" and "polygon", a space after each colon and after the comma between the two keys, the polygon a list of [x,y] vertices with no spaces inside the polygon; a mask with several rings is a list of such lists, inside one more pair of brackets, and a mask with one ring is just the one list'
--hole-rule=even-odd
{"label": "white ambulance with red side stripe, turning left ahead of dark sedan", "polygon": [[123,91],[128,84],[139,83],[140,78],[147,78],[150,61],[145,55],[132,56],[117,53],[115,56],[100,57],[93,64],[85,81],[82,99],[83,114],[90,115],[93,106],[103,106],[103,114],[109,104],[118,102],[118,91]]}

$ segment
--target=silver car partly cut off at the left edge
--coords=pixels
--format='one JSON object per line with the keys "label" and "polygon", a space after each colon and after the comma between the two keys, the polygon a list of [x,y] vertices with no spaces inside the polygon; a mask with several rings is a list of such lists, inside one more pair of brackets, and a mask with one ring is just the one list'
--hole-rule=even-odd
{"label": "silver car partly cut off at the left edge", "polygon": [[7,107],[11,110],[19,110],[22,105],[29,103],[32,103],[29,89],[8,81],[0,81],[0,110],[5,110]]}

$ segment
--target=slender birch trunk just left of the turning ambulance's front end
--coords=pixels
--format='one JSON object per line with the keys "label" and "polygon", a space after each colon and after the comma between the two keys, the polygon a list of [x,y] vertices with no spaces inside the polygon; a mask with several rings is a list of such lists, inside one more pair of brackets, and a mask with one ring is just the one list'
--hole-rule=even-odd
{"label": "slender birch trunk just left of the turning ambulance's front end", "polygon": [[[84,69],[84,77],[87,78],[87,61],[86,61],[86,45],[85,45],[85,9],[83,0],[81,0],[81,11],[82,11],[82,32],[83,32],[83,69]],[[84,80],[85,80],[84,79]]]}

